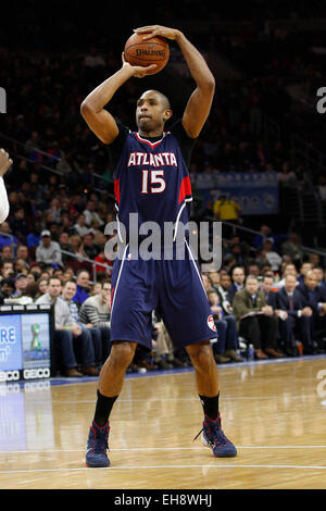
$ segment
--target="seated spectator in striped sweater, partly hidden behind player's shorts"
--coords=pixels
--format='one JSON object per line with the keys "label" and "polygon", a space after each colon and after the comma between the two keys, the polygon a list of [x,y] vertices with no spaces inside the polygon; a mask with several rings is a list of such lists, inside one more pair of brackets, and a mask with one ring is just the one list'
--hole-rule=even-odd
{"label": "seated spectator in striped sweater, partly hidden behind player's shorts", "polygon": [[91,324],[96,328],[100,328],[103,339],[103,359],[110,354],[110,301],[111,301],[111,284],[110,281],[102,283],[101,294],[87,298],[80,309],[80,321],[87,325]]}

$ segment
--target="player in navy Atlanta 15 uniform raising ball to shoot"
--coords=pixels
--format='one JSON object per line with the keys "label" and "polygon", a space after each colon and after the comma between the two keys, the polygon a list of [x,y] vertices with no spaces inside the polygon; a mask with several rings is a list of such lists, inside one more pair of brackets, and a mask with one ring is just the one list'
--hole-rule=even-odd
{"label": "player in navy Atlanta 15 uniform raising ball to shoot", "polygon": [[[168,99],[147,90],[138,99],[133,133],[104,110],[115,91],[129,78],[147,76],[155,64],[131,66],[123,55],[120,71],[98,86],[84,100],[80,111],[90,129],[115,159],[114,188],[117,219],[128,237],[129,213],[138,213],[139,225],[154,221],[188,222],[187,201],[191,186],[187,165],[196,138],[210,113],[215,82],[204,59],[185,35],[160,25],[135,32],[175,40],[197,84],[183,119],[170,132],[165,122],[172,116]],[[176,228],[176,227],[175,227]],[[198,394],[203,407],[202,441],[216,457],[235,457],[237,450],[221,427],[217,367],[210,339],[216,337],[214,322],[200,272],[189,245],[184,260],[133,260],[126,245],[112,273],[111,354],[99,378],[98,398],[90,426],[86,465],[109,466],[106,456],[109,416],[117,399],[137,345],[151,348],[151,313],[158,309],[177,348],[186,347],[196,371]],[[200,432],[201,433],[201,432]]]}

